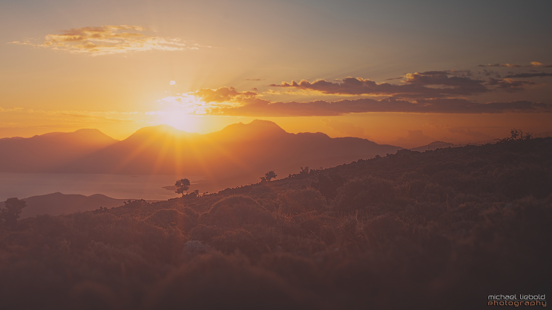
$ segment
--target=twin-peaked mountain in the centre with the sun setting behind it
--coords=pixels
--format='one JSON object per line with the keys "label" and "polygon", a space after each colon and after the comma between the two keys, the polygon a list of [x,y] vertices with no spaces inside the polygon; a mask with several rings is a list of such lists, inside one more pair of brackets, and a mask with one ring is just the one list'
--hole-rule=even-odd
{"label": "twin-peaked mountain in the centre with the sun setting behind it", "polygon": [[395,153],[401,147],[325,133],[288,133],[271,121],[232,124],[200,135],[171,126],[145,127],[123,141],[88,154],[56,172],[206,175],[298,172]]}

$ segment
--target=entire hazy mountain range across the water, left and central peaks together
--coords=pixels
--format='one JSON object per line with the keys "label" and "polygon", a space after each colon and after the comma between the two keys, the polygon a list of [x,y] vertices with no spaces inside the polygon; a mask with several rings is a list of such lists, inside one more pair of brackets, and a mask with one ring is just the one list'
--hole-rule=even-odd
{"label": "entire hazy mountain range across the water, left and central peaks together", "polygon": [[[46,138],[57,140],[38,142]],[[330,138],[322,132],[288,133],[266,120],[203,135],[158,125],[137,130],[123,141],[97,130],[7,141],[25,142],[26,148],[12,147],[9,157],[3,155],[3,172],[203,175],[219,183],[216,188],[258,181],[270,170],[284,177],[300,167],[334,167],[402,149],[362,138]]]}

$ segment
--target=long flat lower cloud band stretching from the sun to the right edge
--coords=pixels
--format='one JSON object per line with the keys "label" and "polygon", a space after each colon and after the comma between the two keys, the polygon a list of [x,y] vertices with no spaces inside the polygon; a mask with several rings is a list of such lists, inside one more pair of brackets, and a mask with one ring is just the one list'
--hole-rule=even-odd
{"label": "long flat lower cloud band stretching from the sun to the right edge", "polygon": [[[511,79],[490,82],[498,88],[513,92],[533,82]],[[533,83],[534,84],[534,83]],[[267,92],[270,93],[270,92]],[[162,104],[178,106],[184,113],[196,115],[231,116],[337,116],[349,113],[552,113],[552,104],[518,100],[508,102],[477,103],[465,98],[371,98],[337,101],[270,101],[251,91],[238,91],[233,87],[204,88],[158,100]]]}

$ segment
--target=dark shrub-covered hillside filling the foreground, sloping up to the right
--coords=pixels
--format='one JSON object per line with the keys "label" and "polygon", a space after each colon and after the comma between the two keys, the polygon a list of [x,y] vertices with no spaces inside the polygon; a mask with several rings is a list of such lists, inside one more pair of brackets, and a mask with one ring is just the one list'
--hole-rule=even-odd
{"label": "dark shrub-covered hillside filling the foreground, sloping up to the right", "polygon": [[473,309],[545,294],[552,138],[359,160],[0,228],[24,309]]}

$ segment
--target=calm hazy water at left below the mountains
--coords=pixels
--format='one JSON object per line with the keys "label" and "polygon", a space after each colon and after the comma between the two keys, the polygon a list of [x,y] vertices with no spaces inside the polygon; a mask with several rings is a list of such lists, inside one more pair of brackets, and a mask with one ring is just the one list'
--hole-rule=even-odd
{"label": "calm hazy water at left below the mountains", "polygon": [[194,181],[201,175],[140,175],[87,173],[9,173],[0,172],[0,202],[10,197],[23,199],[56,192],[90,196],[103,194],[116,199],[167,200],[178,197],[174,185],[178,179]]}

